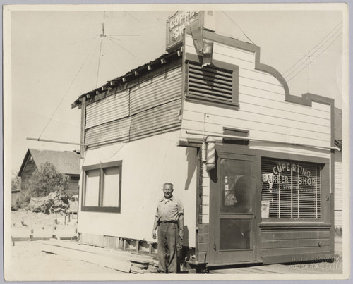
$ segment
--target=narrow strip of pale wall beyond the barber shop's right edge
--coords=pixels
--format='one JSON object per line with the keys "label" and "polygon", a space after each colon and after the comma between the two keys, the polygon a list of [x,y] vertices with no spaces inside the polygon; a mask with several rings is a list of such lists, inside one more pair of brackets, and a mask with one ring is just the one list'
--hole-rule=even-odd
{"label": "narrow strip of pale wall beyond the barber shop's right edge", "polygon": [[342,152],[335,152],[335,227],[342,228]]}

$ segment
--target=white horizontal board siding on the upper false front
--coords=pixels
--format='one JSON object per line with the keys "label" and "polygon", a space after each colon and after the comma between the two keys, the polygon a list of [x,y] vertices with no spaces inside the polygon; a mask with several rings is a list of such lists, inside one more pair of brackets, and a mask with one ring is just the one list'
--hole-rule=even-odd
{"label": "white horizontal board siding on the upper false front", "polygon": [[[195,54],[186,35],[186,52]],[[213,59],[239,66],[239,109],[225,109],[185,101],[181,130],[222,134],[223,127],[249,130],[249,136],[273,142],[292,142],[329,147],[330,106],[313,101],[303,106],[285,101],[285,90],[273,76],[255,70],[255,53],[215,42]],[[186,135],[181,139],[200,138]],[[259,145],[270,150],[265,144]]]}

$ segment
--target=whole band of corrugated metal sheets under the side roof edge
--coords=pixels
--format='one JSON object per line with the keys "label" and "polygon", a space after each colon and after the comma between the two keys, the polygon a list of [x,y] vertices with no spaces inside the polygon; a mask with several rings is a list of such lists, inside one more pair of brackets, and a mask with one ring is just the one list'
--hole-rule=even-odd
{"label": "whole band of corrugated metal sheets under the side roof edge", "polygon": [[181,66],[159,74],[86,109],[85,143],[121,142],[180,128]]}

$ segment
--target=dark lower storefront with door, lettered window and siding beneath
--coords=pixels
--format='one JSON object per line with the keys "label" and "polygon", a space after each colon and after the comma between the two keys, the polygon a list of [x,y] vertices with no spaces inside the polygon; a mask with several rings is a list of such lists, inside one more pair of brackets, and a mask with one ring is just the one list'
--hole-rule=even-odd
{"label": "dark lower storefront with door, lettered window and siding beneath", "polygon": [[333,257],[328,159],[216,149],[208,265]]}

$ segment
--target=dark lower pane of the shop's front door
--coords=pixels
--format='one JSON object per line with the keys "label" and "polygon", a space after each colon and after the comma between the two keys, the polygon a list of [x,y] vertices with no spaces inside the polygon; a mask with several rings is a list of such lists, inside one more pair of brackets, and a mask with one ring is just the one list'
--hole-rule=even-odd
{"label": "dark lower pane of the shop's front door", "polygon": [[250,248],[251,220],[220,219],[220,250]]}

